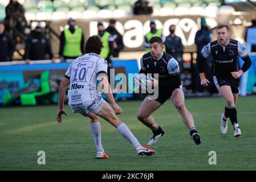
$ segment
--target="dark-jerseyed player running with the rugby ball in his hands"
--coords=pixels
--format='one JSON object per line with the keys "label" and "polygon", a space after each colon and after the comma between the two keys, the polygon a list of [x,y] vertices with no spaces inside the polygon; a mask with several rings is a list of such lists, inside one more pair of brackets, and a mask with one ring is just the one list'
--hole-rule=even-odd
{"label": "dark-jerseyed player running with the rugby ball in his hands", "polygon": [[[145,75],[151,74],[154,79],[148,81],[148,84],[153,85],[157,89],[154,88],[153,93],[148,93],[137,113],[137,118],[153,132],[153,137],[145,147],[155,144],[165,133],[165,130],[157,125],[151,114],[164,104],[166,100],[173,102],[173,105],[181,114],[183,122],[188,127],[192,139],[196,144],[200,144],[200,134],[198,134],[194,126],[192,114],[186,109],[184,104],[184,93],[182,92],[178,62],[163,51],[164,46],[159,36],[154,36],[149,40],[149,47],[151,52],[145,53],[141,57],[140,73]],[[156,90],[158,91],[158,97],[154,98]]]}

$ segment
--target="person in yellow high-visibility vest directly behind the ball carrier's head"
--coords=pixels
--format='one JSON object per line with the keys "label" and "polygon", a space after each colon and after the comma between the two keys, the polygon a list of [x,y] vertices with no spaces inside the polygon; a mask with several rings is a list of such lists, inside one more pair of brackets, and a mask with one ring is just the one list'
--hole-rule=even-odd
{"label": "person in yellow high-visibility vest directly behind the ball carrier's head", "polygon": [[[155,19],[151,19],[150,20],[150,31],[145,35],[144,37],[144,47],[145,47],[145,51],[146,52],[150,52],[150,48],[149,48],[149,40],[153,37],[153,36],[159,36],[160,38],[162,38],[163,43],[165,42],[165,37],[162,36],[162,30],[157,30],[156,29],[156,22]],[[165,46],[164,46],[164,51],[165,51]]]}

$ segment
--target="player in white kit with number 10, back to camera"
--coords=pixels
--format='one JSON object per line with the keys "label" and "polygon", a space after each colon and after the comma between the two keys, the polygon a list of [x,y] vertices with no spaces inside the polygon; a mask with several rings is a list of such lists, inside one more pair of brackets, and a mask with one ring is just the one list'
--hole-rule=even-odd
{"label": "player in white kit with number 10, back to camera", "polygon": [[[103,43],[100,38],[98,36],[91,36],[84,46],[85,54],[79,56],[70,64],[59,87],[59,110],[56,120],[61,123],[62,114],[67,115],[63,106],[66,89],[70,85],[68,105],[70,105],[74,114],[80,113],[85,117],[91,118],[90,126],[96,146],[97,159],[109,158],[101,144],[100,118],[105,119],[116,127],[118,133],[133,145],[137,154],[151,156],[155,154],[155,151],[142,147],[127,125],[116,117],[116,114],[122,113],[122,109],[116,104],[111,93],[107,78],[107,61],[99,56],[102,47]],[[97,80],[100,81],[100,86],[116,114],[108,102],[104,101],[101,94],[97,92]]]}

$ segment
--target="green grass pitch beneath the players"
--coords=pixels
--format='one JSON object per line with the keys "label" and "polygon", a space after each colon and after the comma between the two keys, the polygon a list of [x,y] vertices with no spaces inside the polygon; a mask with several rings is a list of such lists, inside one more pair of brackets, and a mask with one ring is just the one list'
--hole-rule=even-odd
{"label": "green grass pitch beneath the players", "polygon": [[[137,110],[141,101],[119,102],[118,117],[131,129],[141,144],[152,132],[140,123]],[[255,170],[256,169],[256,96],[239,97],[238,121],[242,137],[234,138],[229,122],[225,135],[220,133],[222,98],[188,98],[186,107],[194,117],[200,145],[194,144],[180,114],[170,101],[153,113],[166,133],[155,146],[156,154],[138,156],[127,140],[101,119],[102,142],[109,159],[95,159],[90,119],[72,114],[63,122],[55,121],[58,106],[9,107],[0,109],[0,170]],[[46,154],[39,165],[38,151]],[[209,152],[216,151],[217,164],[209,164]]]}

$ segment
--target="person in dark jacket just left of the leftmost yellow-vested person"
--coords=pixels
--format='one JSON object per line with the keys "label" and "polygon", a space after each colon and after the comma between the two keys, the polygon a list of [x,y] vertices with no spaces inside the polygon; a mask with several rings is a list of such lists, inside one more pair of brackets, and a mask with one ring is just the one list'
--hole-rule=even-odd
{"label": "person in dark jacket just left of the leftmost yellow-vested person", "polygon": [[43,34],[42,27],[38,24],[26,40],[25,55],[23,59],[27,64],[29,64],[31,60],[46,60],[47,53],[49,58],[52,61],[55,61],[55,58],[52,55],[50,42]]}

